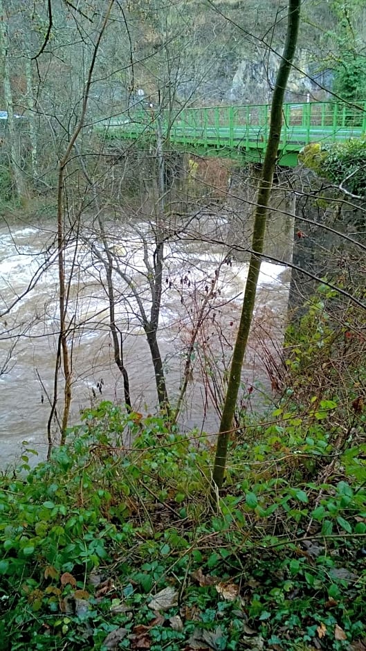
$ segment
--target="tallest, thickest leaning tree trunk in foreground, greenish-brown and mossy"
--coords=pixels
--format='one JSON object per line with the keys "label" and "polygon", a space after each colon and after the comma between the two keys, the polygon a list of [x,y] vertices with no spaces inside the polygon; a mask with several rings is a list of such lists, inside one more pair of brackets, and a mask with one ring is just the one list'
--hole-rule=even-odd
{"label": "tallest, thickest leaning tree trunk in foreground, greenish-brown and mossy", "polygon": [[[295,55],[296,43],[298,41],[298,30],[300,24],[300,0],[289,0],[289,9],[287,17],[287,34],[284,53],[277,73],[275,89],[273,91],[273,100],[271,106],[271,125],[268,136],[268,145],[262,177],[259,181],[257,208],[255,209],[255,222],[253,230],[253,253],[250,256],[248,279],[244,292],[243,307],[241,310],[241,319],[237,340],[235,342],[234,353],[228,381],[228,390],[223,405],[223,413],[217,438],[217,449],[214,460],[214,470],[212,479],[217,490],[221,489],[223,478],[226,471],[226,460],[228,456],[228,443],[230,440],[230,430],[232,429],[232,420],[234,418],[235,407],[237,404],[237,395],[239,392],[241,380],[241,368],[243,365],[244,355],[248,342],[250,324],[253,319],[253,310],[255,305],[255,294],[259,271],[261,266],[260,254],[264,247],[264,232],[266,228],[266,215],[268,203],[271,195],[273,182],[273,172],[277,160],[278,145],[280,143],[282,127],[282,106],[284,102],[284,93],[286,91],[287,81],[291,71],[291,64]],[[258,253],[259,255],[256,255]],[[216,490],[216,489],[215,489]]]}

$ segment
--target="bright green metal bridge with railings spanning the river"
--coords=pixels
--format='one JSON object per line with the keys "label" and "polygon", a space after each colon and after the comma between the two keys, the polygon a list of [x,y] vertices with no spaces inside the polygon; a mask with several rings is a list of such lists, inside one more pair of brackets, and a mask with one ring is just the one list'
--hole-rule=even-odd
{"label": "bright green metal bridge with railings spanning the river", "polygon": [[[268,141],[270,105],[215,106],[158,111],[149,106],[101,120],[95,130],[106,139],[156,140],[201,154],[261,162]],[[285,104],[278,163],[297,165],[298,153],[309,143],[333,143],[366,133],[366,102],[348,106],[335,102]]]}

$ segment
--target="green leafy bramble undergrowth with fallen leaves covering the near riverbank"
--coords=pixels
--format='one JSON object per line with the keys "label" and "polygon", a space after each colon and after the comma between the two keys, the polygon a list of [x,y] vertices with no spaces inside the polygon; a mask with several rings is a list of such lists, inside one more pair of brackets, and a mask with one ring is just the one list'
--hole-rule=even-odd
{"label": "green leafy bramble undergrowth with fallen leaves covering the near riverbank", "polygon": [[365,648],[365,341],[326,301],[289,329],[291,384],[243,417],[217,503],[210,440],[109,402],[50,461],[24,450],[1,479],[1,649]]}

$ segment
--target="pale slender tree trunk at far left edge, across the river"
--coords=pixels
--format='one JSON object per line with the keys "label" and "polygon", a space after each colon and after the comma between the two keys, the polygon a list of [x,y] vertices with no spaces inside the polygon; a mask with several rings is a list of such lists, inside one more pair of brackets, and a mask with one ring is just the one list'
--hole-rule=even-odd
{"label": "pale slender tree trunk at far left edge, across the river", "polygon": [[3,0],[0,0],[0,56],[3,60],[3,93],[8,112],[7,130],[10,139],[10,158],[12,172],[14,175],[15,187],[17,188],[18,197],[24,197],[26,193],[26,182],[21,170],[21,154],[19,149],[19,139],[15,129],[14,110],[12,105],[12,88],[10,82],[10,60],[8,56],[8,25],[7,17],[3,10]]}

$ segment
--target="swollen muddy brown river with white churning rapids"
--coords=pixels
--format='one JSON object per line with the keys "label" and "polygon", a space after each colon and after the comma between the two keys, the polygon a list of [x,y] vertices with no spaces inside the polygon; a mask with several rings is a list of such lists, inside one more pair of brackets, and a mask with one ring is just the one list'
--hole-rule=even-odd
{"label": "swollen muddy brown river with white churning rapids", "polygon": [[[140,299],[149,310],[149,278],[142,238],[150,259],[154,247],[147,225],[129,224],[117,229],[113,224],[110,229],[118,265],[133,278]],[[53,395],[59,328],[54,242],[55,226],[49,220],[41,220],[37,226],[17,223],[0,227],[1,467],[17,458],[24,445],[37,449],[40,458],[46,454],[46,422]],[[113,361],[107,296],[102,282],[104,270],[98,251],[102,251],[102,246],[91,224],[84,225],[82,237],[65,251],[66,273],[71,275],[68,314],[73,325],[71,422],[77,422],[80,410],[90,407],[95,400],[123,400],[122,377]],[[217,412],[208,387],[210,373],[202,372],[202,368],[208,359],[217,368],[227,364],[247,272],[245,263],[223,262],[225,256],[223,247],[206,242],[178,240],[165,247],[158,339],[173,402],[179,393],[194,317],[219,269],[216,296],[210,302],[194,349],[192,377],[180,418],[185,430],[196,426],[214,433],[217,427]],[[257,327],[267,344],[276,346],[282,337],[289,276],[284,267],[264,262],[259,285]],[[147,413],[156,407],[156,391],[149,349],[136,316],[138,305],[121,278],[116,279],[116,291],[117,321],[124,338],[131,399],[135,409]],[[259,339],[252,335],[250,340],[244,386],[263,382],[268,387]],[[98,390],[101,379],[102,394]]]}

